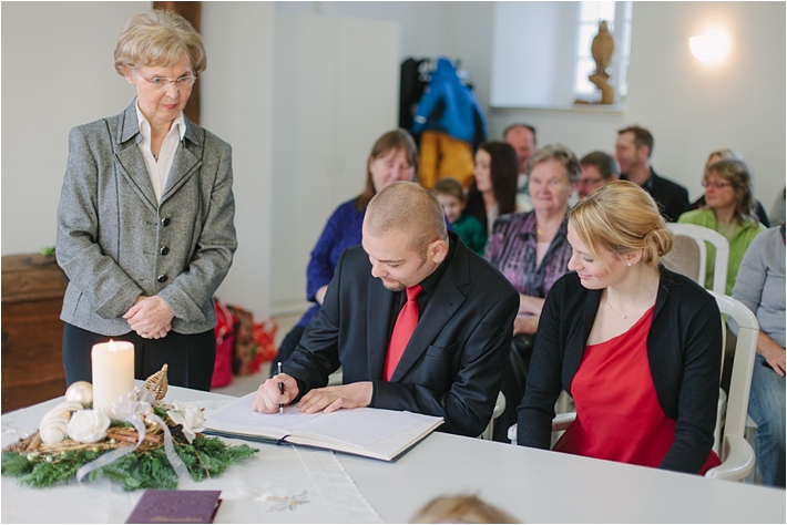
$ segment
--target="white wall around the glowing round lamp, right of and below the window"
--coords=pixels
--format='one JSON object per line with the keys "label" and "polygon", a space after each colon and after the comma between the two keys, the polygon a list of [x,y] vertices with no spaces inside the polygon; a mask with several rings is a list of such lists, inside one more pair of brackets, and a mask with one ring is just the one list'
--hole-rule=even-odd
{"label": "white wall around the glowing round lamp, right of and below the window", "polygon": [[[487,17],[493,18],[492,6]],[[688,50],[688,37],[709,23],[723,23],[733,39],[719,66],[699,63]],[[499,138],[508,124],[524,121],[538,128],[539,144],[563,142],[584,155],[613,153],[616,130],[641,124],[655,137],[654,168],[684,184],[692,199],[703,194],[708,153],[729,146],[749,164],[756,196],[769,209],[787,173],[785,3],[634,2],[631,53],[623,112],[488,109],[490,133]],[[474,78],[489,74],[487,63],[464,62]]]}

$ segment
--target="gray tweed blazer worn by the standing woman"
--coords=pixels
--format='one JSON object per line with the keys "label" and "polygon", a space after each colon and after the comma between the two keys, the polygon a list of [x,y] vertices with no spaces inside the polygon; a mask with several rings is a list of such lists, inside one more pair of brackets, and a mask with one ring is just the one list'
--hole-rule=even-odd
{"label": "gray tweed blazer worn by the standing woman", "polygon": [[232,148],[186,119],[157,203],[135,104],[69,135],[55,254],[70,282],[60,318],[120,336],[136,298],[159,295],[175,313],[172,330],[204,332],[216,325],[213,294],[237,247]]}

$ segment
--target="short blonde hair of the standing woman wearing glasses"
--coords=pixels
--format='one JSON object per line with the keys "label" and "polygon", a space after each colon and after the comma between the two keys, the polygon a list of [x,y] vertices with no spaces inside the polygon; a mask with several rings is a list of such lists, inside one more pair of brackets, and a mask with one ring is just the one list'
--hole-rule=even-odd
{"label": "short blonde hair of the standing woman wearing glasses", "polygon": [[115,71],[156,65],[167,68],[186,54],[198,75],[207,66],[202,37],[188,21],[172,11],[145,11],[126,20],[115,45]]}

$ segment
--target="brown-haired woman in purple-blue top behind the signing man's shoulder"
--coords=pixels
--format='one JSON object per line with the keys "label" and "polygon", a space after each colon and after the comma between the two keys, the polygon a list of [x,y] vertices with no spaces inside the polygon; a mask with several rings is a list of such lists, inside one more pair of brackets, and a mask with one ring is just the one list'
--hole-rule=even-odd
{"label": "brown-haired woman in purple-blue top behind the signing man's shoulder", "polygon": [[[360,229],[371,197],[397,181],[415,181],[417,163],[416,142],[405,130],[389,131],[371,146],[371,153],[366,162],[364,192],[334,210],[311,250],[311,258],[306,268],[306,299],[314,301],[315,305],[282,340],[274,362],[286,361],[298,346],[306,325],[323,305],[325,291],[334,277],[341,253],[350,246],[360,244]],[[275,372],[272,368],[270,373]]]}

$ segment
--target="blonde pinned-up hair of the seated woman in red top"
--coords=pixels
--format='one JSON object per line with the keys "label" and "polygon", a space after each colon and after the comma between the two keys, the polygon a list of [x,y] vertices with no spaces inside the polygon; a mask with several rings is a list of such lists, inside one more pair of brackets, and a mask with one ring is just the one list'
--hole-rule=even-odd
{"label": "blonde pinned-up hair of the seated woman in red top", "polygon": [[674,240],[653,197],[630,181],[593,191],[569,212],[569,220],[596,260],[603,260],[603,251],[623,256],[642,250],[642,261],[656,266]]}

